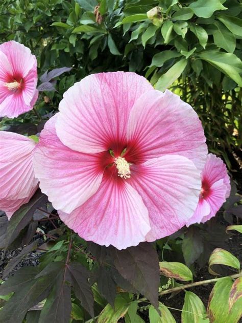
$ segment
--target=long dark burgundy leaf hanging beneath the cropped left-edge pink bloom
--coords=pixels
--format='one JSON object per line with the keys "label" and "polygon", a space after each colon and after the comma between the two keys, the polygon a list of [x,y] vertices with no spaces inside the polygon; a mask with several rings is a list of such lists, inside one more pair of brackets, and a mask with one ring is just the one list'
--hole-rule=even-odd
{"label": "long dark burgundy leaf hanging beneath the cropped left-edge pink bloom", "polygon": [[6,234],[5,249],[17,238],[33,218],[34,211],[47,202],[47,197],[38,189],[29,203],[22,205],[11,217]]}

